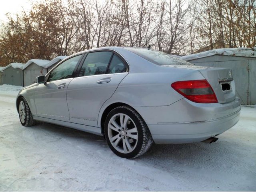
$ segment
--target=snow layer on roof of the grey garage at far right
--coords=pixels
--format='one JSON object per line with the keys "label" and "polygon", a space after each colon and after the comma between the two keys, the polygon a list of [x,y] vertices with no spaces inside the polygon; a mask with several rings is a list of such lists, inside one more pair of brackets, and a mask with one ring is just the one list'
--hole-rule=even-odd
{"label": "snow layer on roof of the grey garage at far right", "polygon": [[[254,49],[256,50],[256,49]],[[201,53],[191,54],[187,56],[182,56],[180,59],[185,61],[190,61],[198,58],[209,57],[213,55],[226,55],[226,56],[239,56],[239,57],[255,57],[256,51],[251,48],[223,48],[223,49],[213,49],[210,51],[204,51]]]}

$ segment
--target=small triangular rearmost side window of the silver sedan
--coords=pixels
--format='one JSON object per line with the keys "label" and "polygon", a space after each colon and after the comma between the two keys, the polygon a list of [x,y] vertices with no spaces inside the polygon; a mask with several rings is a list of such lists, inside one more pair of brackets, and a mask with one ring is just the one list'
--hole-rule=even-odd
{"label": "small triangular rearmost side window of the silver sedan", "polygon": [[108,74],[127,72],[127,67],[122,60],[114,54],[108,67]]}

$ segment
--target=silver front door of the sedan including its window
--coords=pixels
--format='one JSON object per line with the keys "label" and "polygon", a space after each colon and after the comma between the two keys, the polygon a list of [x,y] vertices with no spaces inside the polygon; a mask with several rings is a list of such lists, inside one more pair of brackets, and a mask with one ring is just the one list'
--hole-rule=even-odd
{"label": "silver front door of the sedan including its window", "polygon": [[39,84],[34,95],[37,116],[70,122],[67,88],[82,55],[74,56],[59,64],[46,77],[45,84]]}

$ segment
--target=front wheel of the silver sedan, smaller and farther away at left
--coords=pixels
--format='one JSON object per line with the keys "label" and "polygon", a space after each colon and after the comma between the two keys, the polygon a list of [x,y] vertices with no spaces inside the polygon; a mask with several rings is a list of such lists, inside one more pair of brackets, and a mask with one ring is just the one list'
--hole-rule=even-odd
{"label": "front wheel of the silver sedan, smaller and farther away at left", "polygon": [[21,98],[19,102],[19,116],[20,123],[23,126],[32,126],[35,124],[35,120],[33,120],[32,113],[28,106],[28,102],[25,98]]}

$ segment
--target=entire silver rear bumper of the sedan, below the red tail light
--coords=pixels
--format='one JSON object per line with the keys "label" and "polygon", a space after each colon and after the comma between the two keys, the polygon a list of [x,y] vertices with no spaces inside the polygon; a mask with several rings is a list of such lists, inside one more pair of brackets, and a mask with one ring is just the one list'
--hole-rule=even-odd
{"label": "entire silver rear bumper of the sedan, below the red tail light", "polygon": [[198,104],[182,99],[170,106],[136,108],[157,144],[200,142],[234,126],[240,99],[226,104]]}

